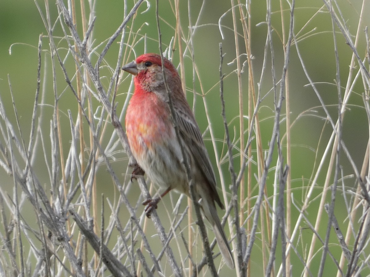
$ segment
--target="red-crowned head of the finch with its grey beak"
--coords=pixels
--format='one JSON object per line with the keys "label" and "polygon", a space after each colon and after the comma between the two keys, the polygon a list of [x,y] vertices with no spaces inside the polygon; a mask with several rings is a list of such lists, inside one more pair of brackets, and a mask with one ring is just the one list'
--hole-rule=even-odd
{"label": "red-crowned head of the finch with its grey beak", "polygon": [[[181,81],[175,66],[164,58],[166,81],[169,88],[181,88]],[[166,98],[165,83],[162,72],[161,56],[158,54],[144,54],[135,61],[122,67],[122,70],[135,75],[135,87],[154,92]]]}

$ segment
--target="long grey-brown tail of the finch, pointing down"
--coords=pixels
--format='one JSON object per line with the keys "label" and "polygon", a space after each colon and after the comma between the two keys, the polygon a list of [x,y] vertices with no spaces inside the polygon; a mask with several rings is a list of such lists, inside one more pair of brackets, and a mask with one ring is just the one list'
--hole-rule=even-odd
{"label": "long grey-brown tail of the finch, pointing down", "polygon": [[216,211],[215,203],[213,199],[211,199],[209,194],[202,195],[201,193],[201,197],[202,197],[201,205],[202,205],[204,215],[208,219],[209,223],[211,223],[212,225],[212,229],[213,229],[213,232],[215,233],[216,241],[220,248],[222,257],[225,260],[225,263],[228,265],[228,267],[233,269],[235,267],[234,259],[231,254],[231,249],[229,246],[228,239],[226,238],[225,232],[223,232],[223,228],[221,226],[221,222],[220,222],[220,219]]}

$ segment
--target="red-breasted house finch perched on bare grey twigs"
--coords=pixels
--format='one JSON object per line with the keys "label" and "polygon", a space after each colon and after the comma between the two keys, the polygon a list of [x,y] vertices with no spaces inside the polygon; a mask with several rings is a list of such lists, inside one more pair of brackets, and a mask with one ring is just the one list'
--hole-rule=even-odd
{"label": "red-breasted house finch perched on bare grey twigs", "polygon": [[[177,70],[168,59],[164,59],[164,66],[180,141],[176,137],[171,119],[161,56],[144,54],[122,67],[124,71],[135,75],[135,91],[127,107],[125,122],[128,144],[138,165],[153,183],[164,189],[161,197],[172,189],[190,196],[186,169],[182,163],[181,146],[184,148],[196,197],[201,199],[198,202],[212,225],[226,264],[233,268],[233,257],[217,215],[215,202],[221,209],[224,209],[224,206],[216,191],[215,173],[202,134],[182,91]],[[152,209],[157,208],[159,199],[158,197],[144,201],[143,204],[148,205],[145,208],[147,216]]]}

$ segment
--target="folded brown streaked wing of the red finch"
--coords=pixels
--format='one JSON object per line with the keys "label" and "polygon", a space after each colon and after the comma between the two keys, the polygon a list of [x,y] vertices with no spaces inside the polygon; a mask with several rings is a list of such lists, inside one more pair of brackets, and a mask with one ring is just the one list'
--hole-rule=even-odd
{"label": "folded brown streaked wing of the red finch", "polygon": [[[198,125],[195,122],[195,119],[189,117],[187,113],[183,110],[176,109],[174,107],[176,114],[176,123],[178,124],[179,133],[182,139],[185,142],[185,145],[188,146],[191,154],[194,157],[195,162],[198,164],[199,169],[203,172],[204,177],[208,181],[211,187],[211,193],[213,199],[217,204],[223,208],[221,199],[216,191],[216,177],[215,172],[213,171],[211,161],[206,150],[206,147],[203,142],[201,131],[199,130]],[[191,113],[191,110],[188,109],[188,112]]]}

